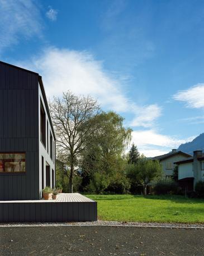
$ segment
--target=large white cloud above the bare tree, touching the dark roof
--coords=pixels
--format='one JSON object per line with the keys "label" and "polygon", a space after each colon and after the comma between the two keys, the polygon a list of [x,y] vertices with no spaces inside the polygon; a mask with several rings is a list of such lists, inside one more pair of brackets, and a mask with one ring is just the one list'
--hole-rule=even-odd
{"label": "large white cloud above the bare tree, touching the dark roof", "polygon": [[160,115],[156,105],[137,106],[121,89],[124,81],[107,72],[102,62],[87,52],[49,48],[40,56],[17,64],[42,75],[49,97],[60,96],[68,89],[75,94],[92,95],[106,109],[135,115],[134,126],[151,126]]}

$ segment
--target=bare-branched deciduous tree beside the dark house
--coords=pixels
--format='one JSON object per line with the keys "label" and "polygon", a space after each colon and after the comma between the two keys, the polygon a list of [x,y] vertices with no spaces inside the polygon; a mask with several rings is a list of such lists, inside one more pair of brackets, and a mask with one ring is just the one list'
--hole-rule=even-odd
{"label": "bare-branched deciduous tree beside the dark house", "polygon": [[73,193],[73,175],[77,171],[80,154],[92,143],[97,124],[94,116],[100,109],[91,97],[77,96],[70,91],[62,98],[50,100],[50,113],[56,136],[58,158],[68,164],[70,170],[69,191]]}

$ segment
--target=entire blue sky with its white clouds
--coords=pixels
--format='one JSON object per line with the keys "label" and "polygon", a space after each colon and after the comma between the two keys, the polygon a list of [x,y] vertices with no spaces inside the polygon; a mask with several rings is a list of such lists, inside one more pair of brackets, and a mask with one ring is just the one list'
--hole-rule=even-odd
{"label": "entire blue sky with its white clouds", "polygon": [[91,94],[146,156],[203,132],[204,2],[0,0],[0,59]]}

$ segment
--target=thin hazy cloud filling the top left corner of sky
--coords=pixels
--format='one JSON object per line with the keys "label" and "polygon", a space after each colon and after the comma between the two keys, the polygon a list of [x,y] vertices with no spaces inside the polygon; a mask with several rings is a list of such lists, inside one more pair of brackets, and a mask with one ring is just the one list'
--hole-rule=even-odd
{"label": "thin hazy cloud filling the top left corner of sky", "polygon": [[39,9],[32,0],[0,0],[0,51],[20,38],[41,35]]}

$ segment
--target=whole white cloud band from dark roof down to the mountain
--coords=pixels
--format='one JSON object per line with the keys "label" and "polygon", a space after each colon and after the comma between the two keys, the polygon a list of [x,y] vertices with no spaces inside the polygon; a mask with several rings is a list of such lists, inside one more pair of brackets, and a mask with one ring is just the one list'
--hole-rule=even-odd
{"label": "whole white cloud band from dark roof down to the mountain", "polygon": [[127,97],[122,89],[125,81],[105,70],[103,62],[97,61],[88,52],[53,47],[45,49],[39,56],[16,62],[16,65],[39,72],[48,97],[60,97],[63,91],[72,90],[75,94],[89,94],[97,98],[103,109],[133,116],[132,121],[126,122],[132,127],[140,126],[140,130],[132,132],[132,141],[140,153],[146,156],[167,153],[192,139],[162,135],[155,130],[155,123],[162,115],[162,108],[157,104],[141,106],[134,99]]}

